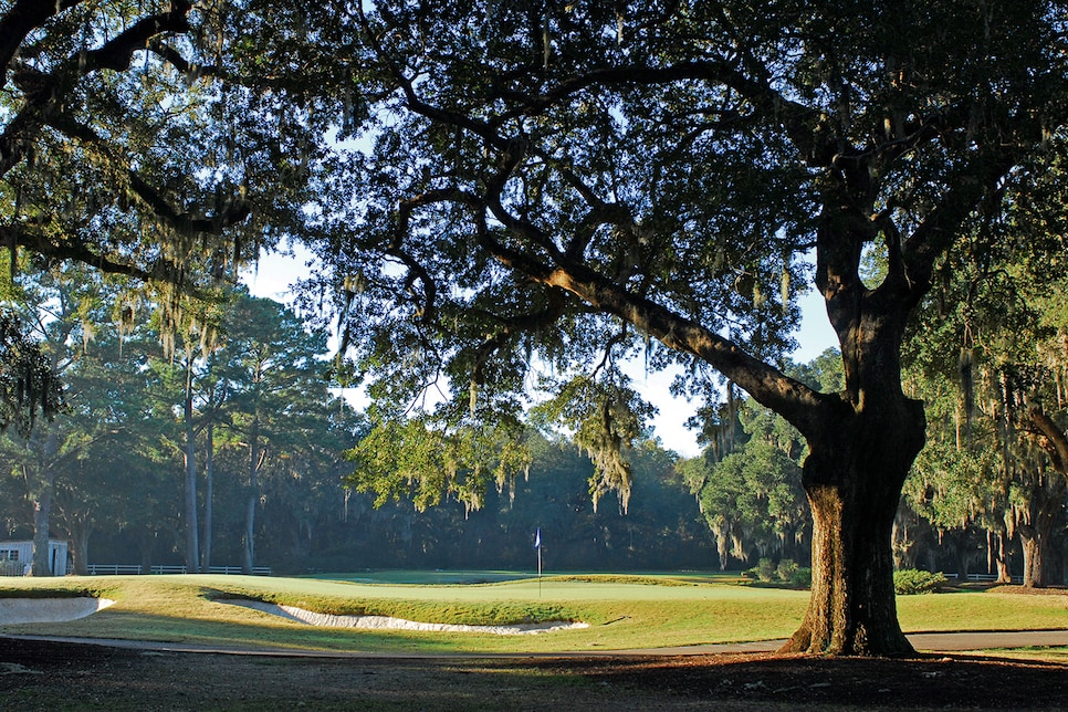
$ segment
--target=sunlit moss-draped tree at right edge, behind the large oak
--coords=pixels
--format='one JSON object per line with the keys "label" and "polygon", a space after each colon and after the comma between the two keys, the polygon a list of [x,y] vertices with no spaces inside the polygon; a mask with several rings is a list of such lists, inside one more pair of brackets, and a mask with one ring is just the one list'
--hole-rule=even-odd
{"label": "sunlit moss-draped tree at right edge, behind the large oak", "polygon": [[1006,579],[1018,534],[1027,586],[1064,580],[1068,468],[1068,261],[1062,165],[977,231],[997,248],[947,255],[905,352],[909,383],[931,404],[929,446],[909,499],[939,526],[974,522]]}

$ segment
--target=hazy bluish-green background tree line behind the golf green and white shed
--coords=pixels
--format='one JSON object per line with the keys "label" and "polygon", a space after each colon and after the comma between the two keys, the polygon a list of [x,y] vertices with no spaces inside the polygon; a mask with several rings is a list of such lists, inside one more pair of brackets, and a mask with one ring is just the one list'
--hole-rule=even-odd
{"label": "hazy bluish-green background tree line behind the golf green and white shed", "polygon": [[547,568],[701,568],[714,556],[676,458],[651,441],[634,453],[626,515],[595,512],[588,459],[533,428],[526,474],[478,511],[446,493],[429,510],[375,506],[348,457],[367,418],[332,391],[325,339],[291,308],[220,291],[171,342],[151,305],[125,311],[126,295],[90,270],[9,287],[64,384],[53,418],[0,438],[6,534],[43,542],[34,575],[49,575],[50,536],[71,542],[81,574],[91,563],[530,569],[538,528]]}

